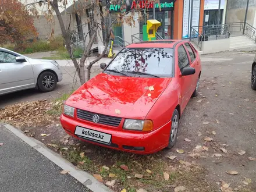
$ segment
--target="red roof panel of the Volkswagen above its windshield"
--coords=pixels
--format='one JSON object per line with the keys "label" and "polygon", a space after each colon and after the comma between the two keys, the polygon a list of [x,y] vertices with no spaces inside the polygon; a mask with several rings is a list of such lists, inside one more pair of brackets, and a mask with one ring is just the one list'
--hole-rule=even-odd
{"label": "red roof panel of the Volkswagen above its windshield", "polygon": [[183,40],[155,40],[155,41],[142,41],[127,45],[127,48],[173,48],[177,42]]}

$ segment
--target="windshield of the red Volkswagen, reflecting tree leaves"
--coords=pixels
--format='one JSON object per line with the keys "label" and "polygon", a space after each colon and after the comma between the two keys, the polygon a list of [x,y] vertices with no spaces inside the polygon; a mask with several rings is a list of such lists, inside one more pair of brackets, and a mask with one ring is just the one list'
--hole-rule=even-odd
{"label": "windshield of the red Volkswagen, reflecting tree leaves", "polygon": [[127,76],[171,77],[172,58],[172,48],[125,48],[105,71]]}

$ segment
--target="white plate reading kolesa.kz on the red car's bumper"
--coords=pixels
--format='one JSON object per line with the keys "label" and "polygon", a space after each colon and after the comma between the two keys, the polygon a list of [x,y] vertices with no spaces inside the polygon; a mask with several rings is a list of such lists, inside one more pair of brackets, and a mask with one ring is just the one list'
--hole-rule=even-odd
{"label": "white plate reading kolesa.kz on the red car's bumper", "polygon": [[111,143],[111,134],[104,133],[101,131],[95,131],[92,129],[88,129],[85,127],[76,126],[76,130],[74,131],[76,136],[88,138],[88,140],[110,144]]}

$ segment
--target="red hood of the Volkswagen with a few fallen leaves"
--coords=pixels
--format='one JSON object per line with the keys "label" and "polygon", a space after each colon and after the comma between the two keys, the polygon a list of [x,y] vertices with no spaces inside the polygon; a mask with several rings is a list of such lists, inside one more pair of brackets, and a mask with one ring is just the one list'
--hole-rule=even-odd
{"label": "red hood of the Volkswagen with a few fallen leaves", "polygon": [[76,90],[66,105],[104,115],[144,119],[171,80],[101,73]]}

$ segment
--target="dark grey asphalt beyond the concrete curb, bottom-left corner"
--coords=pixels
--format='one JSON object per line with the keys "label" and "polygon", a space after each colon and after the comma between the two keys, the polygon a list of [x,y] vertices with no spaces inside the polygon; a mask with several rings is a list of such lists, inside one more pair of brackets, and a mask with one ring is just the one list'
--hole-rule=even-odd
{"label": "dark grey asphalt beyond the concrete curb, bottom-left corner", "polygon": [[0,143],[0,191],[90,191],[1,125]]}

